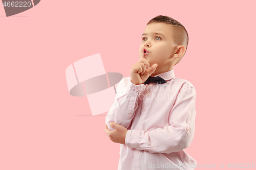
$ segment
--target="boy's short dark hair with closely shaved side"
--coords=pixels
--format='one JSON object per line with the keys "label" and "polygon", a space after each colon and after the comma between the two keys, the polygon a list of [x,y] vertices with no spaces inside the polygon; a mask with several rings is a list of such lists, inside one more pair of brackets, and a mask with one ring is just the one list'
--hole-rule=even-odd
{"label": "boy's short dark hair with closely shaved side", "polygon": [[[154,22],[163,22],[169,25],[173,25],[173,35],[174,35],[174,43],[176,43],[177,45],[184,45],[186,47],[185,53],[187,51],[187,44],[188,44],[188,34],[187,34],[187,30],[185,29],[185,27],[177,20],[169,17],[169,16],[164,16],[164,15],[158,15],[155,18],[152,18],[150,21],[147,22],[146,25],[149,25],[150,23],[154,23]],[[184,55],[185,55],[184,53]],[[183,56],[184,56],[183,55]],[[180,62],[180,60],[183,58],[183,56],[179,59],[179,61],[176,63],[178,64]],[[175,65],[176,65],[175,64]]]}

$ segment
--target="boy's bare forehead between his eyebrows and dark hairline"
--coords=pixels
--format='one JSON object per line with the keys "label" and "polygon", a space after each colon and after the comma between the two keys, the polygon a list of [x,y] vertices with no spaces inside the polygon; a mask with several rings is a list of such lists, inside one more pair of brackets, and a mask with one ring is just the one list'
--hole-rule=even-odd
{"label": "boy's bare forehead between his eyebrows and dark hairline", "polygon": [[166,37],[172,37],[172,25],[153,22],[146,26],[143,34],[162,33]]}

